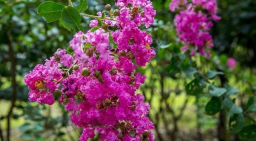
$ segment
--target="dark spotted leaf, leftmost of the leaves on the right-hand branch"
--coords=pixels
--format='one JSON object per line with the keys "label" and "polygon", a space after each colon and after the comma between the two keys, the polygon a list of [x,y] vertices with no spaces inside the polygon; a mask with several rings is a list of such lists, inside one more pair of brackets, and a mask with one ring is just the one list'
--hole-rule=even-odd
{"label": "dark spotted leaf, leftmost of the leaves on the right-hand branch", "polygon": [[200,94],[202,92],[202,89],[203,89],[203,86],[197,79],[194,79],[185,85],[186,93],[189,95]]}

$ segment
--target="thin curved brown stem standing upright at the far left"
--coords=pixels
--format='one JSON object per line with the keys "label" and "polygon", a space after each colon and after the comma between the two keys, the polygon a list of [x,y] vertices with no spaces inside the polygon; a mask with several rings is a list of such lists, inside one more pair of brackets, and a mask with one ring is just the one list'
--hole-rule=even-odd
{"label": "thin curved brown stem standing upright at the far left", "polygon": [[8,35],[8,32],[5,31],[5,36],[6,36],[6,40],[7,40],[7,45],[8,45],[8,54],[9,54],[9,59],[11,62],[11,86],[12,86],[12,96],[11,96],[11,105],[9,107],[8,113],[7,113],[7,141],[10,140],[10,118],[12,115],[12,109],[15,105],[15,101],[16,101],[16,95],[17,95],[17,91],[16,91],[16,62],[15,62],[15,57],[14,57],[14,51],[13,51],[13,47],[10,41],[10,37]]}

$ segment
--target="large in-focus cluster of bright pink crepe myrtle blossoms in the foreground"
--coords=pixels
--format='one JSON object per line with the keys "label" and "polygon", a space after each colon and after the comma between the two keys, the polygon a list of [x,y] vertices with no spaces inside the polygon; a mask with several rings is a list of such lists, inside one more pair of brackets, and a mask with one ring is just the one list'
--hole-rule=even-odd
{"label": "large in-focus cluster of bright pink crepe myrtle blossoms in the foreground", "polygon": [[[149,27],[155,10],[150,0],[115,1],[120,13],[102,22],[117,30],[102,26],[77,32],[69,42],[72,53],[58,49],[25,75],[29,100],[52,104],[53,95],[59,94],[71,121],[83,128],[79,140],[93,138],[94,131],[101,140],[153,140],[154,126],[146,116],[150,106],[135,92],[145,76],[135,70],[155,55],[151,35],[138,27]],[[97,26],[97,21],[90,26]],[[110,46],[109,35],[117,47]]]}

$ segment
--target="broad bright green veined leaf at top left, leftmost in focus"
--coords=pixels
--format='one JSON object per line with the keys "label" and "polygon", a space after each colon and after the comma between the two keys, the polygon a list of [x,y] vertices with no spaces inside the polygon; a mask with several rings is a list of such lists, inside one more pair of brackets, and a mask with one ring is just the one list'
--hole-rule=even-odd
{"label": "broad bright green veined leaf at top left, leftmost in focus", "polygon": [[46,19],[46,22],[52,22],[61,17],[61,11],[64,5],[52,1],[42,2],[38,8],[37,13]]}

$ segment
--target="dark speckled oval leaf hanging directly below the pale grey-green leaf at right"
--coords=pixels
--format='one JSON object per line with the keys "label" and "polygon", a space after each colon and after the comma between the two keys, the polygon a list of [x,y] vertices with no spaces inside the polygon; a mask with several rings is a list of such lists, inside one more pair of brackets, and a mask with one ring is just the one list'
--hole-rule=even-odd
{"label": "dark speckled oval leaf hanging directly below the pale grey-green leaf at right", "polygon": [[212,96],[205,106],[205,113],[207,115],[216,114],[221,108],[221,100],[219,97]]}

